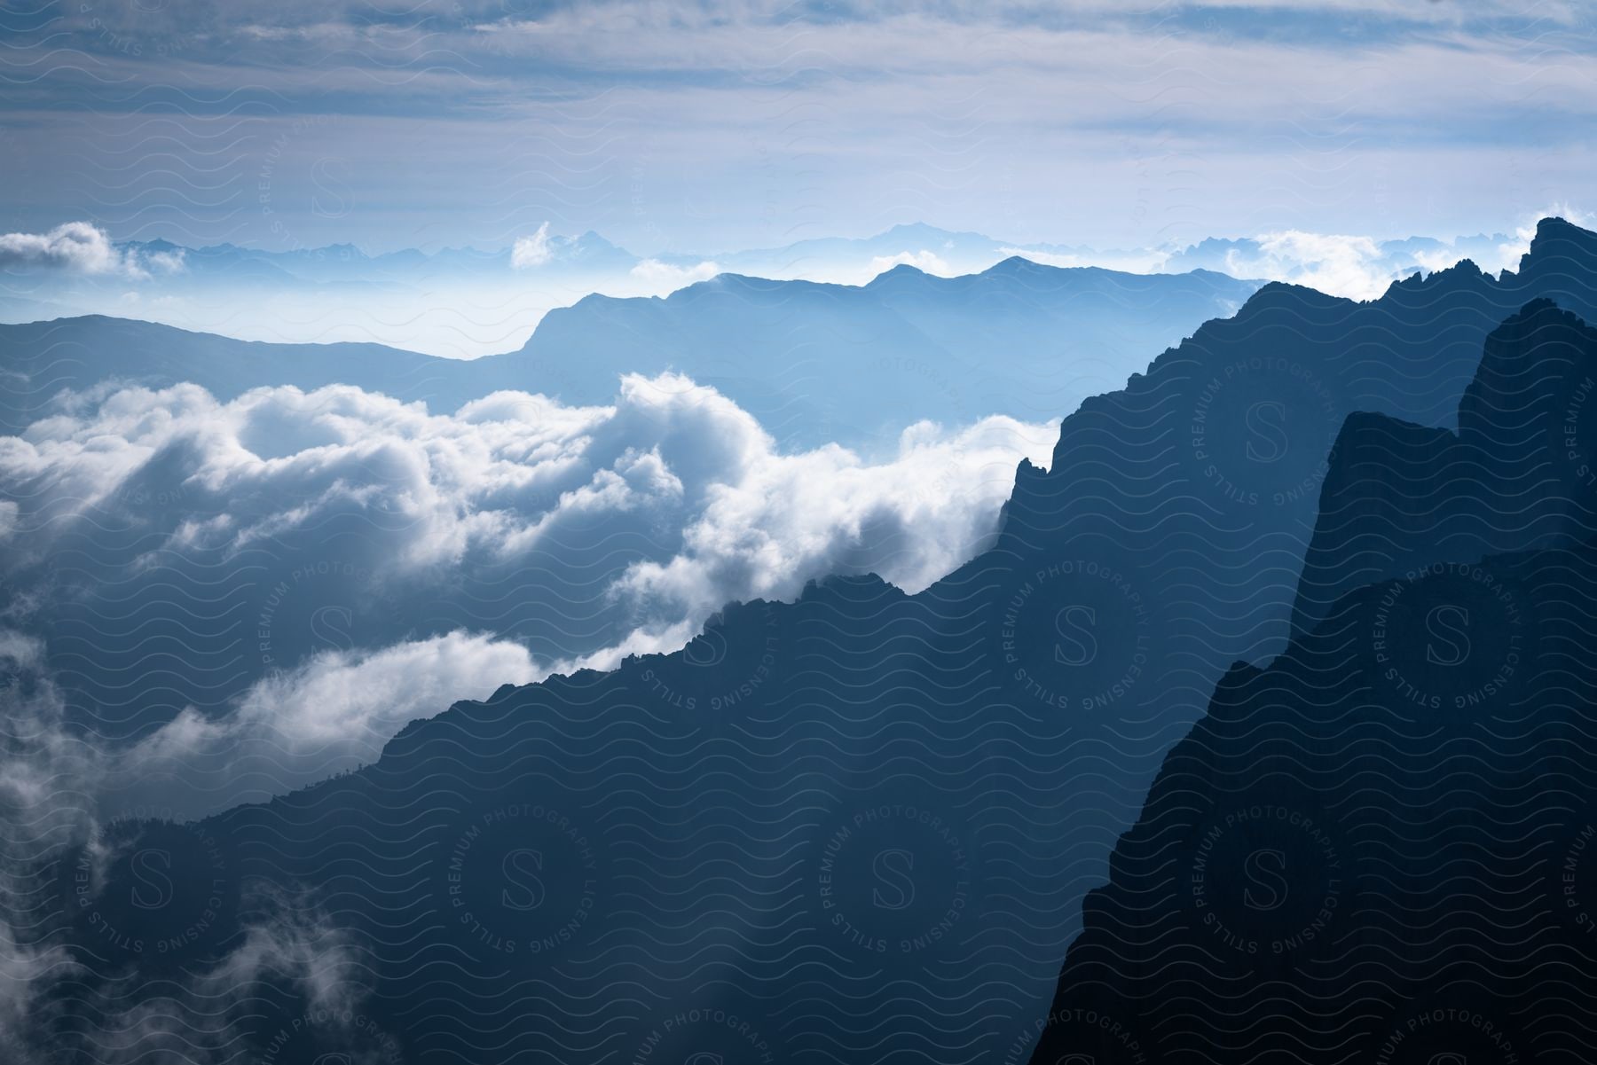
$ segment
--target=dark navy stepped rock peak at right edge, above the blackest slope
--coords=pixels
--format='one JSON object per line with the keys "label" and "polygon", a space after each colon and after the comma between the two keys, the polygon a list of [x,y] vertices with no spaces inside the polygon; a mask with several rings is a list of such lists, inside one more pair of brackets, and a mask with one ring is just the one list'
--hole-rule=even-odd
{"label": "dark navy stepped rock peak at right edge, above the blackest slope", "polygon": [[1298,631],[1359,584],[1597,532],[1597,331],[1533,300],[1487,337],[1458,433],[1348,418],[1294,607]]}

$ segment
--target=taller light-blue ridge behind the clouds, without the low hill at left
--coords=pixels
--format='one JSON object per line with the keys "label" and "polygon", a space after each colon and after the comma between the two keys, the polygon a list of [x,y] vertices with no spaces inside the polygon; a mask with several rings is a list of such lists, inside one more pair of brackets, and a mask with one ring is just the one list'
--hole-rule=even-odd
{"label": "taller light-blue ridge behind the clouds, without the low hill at left", "polygon": [[580,402],[604,402],[623,372],[677,369],[787,445],[880,447],[905,414],[1052,420],[1257,287],[1025,259],[961,278],[901,265],[859,287],[722,275],[666,299],[589,295],[551,311],[514,358]]}

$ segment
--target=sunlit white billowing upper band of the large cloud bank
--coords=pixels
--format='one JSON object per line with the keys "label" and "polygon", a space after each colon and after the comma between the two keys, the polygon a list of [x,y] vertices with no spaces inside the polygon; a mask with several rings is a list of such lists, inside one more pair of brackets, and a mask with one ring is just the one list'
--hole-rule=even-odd
{"label": "sunlit white billowing upper band of the large cloud bank", "polygon": [[[562,527],[596,514],[671,532],[711,516],[781,516],[778,529],[751,530],[853,543],[866,514],[891,505],[939,522],[883,559],[888,578],[918,584],[928,565],[971,549],[1008,497],[1014,465],[1046,460],[1054,436],[1052,425],[989,417],[953,433],[912,426],[878,465],[835,445],[781,455],[731,399],[669,372],[624,375],[610,407],[506,391],[454,415],[348,385],[260,388],[232,402],[196,385],[102,386],[69,396],[24,436],[0,437],[0,485],[21,508],[8,521],[22,549],[48,546],[73,517],[104,517],[96,511],[120,508],[118,493],[137,484],[144,497],[184,500],[164,514],[164,548],[236,554],[313,540],[353,517],[366,525],[363,565],[390,575],[557,551]],[[838,498],[783,506],[794,492],[834,493],[838,479],[869,489],[838,497],[843,509]],[[960,535],[949,540],[942,522],[955,516]],[[160,530],[141,527],[150,532]],[[771,572],[725,591],[759,594],[775,581]]]}

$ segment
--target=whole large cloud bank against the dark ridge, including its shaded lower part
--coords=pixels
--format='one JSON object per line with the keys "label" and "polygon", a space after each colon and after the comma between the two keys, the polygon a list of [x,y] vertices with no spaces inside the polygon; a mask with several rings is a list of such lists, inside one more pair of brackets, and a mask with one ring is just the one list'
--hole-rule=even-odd
{"label": "whole large cloud bank against the dark ridge, including its shaded lower part", "polygon": [[[990,417],[915,425],[877,460],[783,453],[679,374],[626,375],[604,407],[503,391],[454,414],[109,383],[0,437],[0,576],[11,624],[51,640],[18,647],[75,663],[83,723],[142,736],[99,792],[201,813],[369,762],[454,699],[680,647],[731,600],[829,573],[923,588],[989,541],[1056,436]],[[232,628],[187,635],[196,608]],[[150,655],[163,683],[129,690]]]}

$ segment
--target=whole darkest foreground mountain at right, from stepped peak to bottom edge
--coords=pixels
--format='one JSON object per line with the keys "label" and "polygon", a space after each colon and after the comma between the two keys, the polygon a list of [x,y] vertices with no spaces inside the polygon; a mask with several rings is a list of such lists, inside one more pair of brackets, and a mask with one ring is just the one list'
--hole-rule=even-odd
{"label": "whole darkest foreground mountain at right, from stepped peak to bottom edge", "polygon": [[1295,613],[1166,758],[1032,1059],[1597,1060],[1597,331],[1337,441]]}

